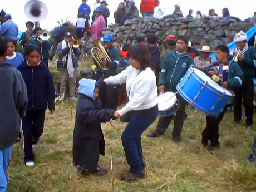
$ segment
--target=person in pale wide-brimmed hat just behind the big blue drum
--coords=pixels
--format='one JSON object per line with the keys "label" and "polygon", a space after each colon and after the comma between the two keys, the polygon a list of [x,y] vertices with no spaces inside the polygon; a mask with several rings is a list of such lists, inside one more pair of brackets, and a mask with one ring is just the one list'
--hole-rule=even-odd
{"label": "person in pale wide-brimmed hat just behind the big blue drum", "polygon": [[201,49],[198,49],[200,56],[194,58],[195,66],[200,68],[207,68],[215,63],[213,58],[210,58],[210,53],[214,52],[210,50],[210,47],[204,45]]}

